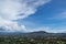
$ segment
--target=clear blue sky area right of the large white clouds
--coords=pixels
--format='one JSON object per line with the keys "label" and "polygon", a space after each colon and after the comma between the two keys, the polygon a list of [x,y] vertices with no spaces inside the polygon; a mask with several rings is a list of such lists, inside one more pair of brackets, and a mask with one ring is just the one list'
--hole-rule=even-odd
{"label": "clear blue sky area right of the large white clouds", "polygon": [[51,28],[51,32],[65,32],[66,0],[51,0],[51,2],[38,7],[33,15],[23,20],[23,23],[30,29]]}

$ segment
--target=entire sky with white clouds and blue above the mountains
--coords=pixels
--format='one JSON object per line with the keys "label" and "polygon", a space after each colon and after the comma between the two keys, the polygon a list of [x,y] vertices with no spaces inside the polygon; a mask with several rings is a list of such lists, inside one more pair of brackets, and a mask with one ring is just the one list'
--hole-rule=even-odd
{"label": "entire sky with white clouds and blue above the mountains", "polygon": [[66,0],[0,0],[0,32],[66,32]]}

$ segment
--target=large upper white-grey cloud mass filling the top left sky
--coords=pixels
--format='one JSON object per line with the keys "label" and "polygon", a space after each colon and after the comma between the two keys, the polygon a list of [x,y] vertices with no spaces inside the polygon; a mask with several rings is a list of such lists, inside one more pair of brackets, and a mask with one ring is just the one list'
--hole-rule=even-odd
{"label": "large upper white-grey cloud mass filling the top left sky", "polygon": [[[0,16],[6,20],[24,19],[50,0],[0,0]],[[8,16],[8,18],[7,18]]]}

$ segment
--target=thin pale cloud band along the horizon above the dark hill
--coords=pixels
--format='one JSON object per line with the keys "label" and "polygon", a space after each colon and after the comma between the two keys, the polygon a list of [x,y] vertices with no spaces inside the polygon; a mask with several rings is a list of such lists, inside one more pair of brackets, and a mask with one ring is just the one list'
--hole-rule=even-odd
{"label": "thin pale cloud band along the horizon above the dark hill", "polygon": [[65,26],[59,26],[59,28],[51,28],[51,26],[41,26],[37,29],[29,30],[30,32],[34,31],[45,31],[47,33],[66,33],[66,28]]}

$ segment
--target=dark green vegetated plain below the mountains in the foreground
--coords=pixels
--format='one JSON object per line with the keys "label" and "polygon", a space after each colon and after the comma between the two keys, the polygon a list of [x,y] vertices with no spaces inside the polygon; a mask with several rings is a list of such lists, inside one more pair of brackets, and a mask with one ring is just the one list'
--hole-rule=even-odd
{"label": "dark green vegetated plain below the mountains in the foreground", "polygon": [[66,37],[2,35],[0,44],[66,44]]}

